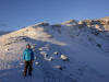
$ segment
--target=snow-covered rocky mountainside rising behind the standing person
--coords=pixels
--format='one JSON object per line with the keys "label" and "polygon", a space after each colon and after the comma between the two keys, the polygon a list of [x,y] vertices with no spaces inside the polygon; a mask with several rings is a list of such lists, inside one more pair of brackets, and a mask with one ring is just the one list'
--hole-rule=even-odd
{"label": "snow-covered rocky mountainside rising behind the standing person", "polygon": [[[35,54],[33,78],[22,52]],[[0,36],[0,82],[109,82],[109,17],[38,23]]]}

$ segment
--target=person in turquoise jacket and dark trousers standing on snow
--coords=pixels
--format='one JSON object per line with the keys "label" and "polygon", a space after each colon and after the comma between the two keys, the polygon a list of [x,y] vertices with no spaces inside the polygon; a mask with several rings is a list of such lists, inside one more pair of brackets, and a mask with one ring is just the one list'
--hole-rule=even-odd
{"label": "person in turquoise jacket and dark trousers standing on snow", "polygon": [[26,77],[27,70],[28,70],[28,75],[32,75],[34,52],[29,44],[26,45],[26,49],[23,51],[23,60],[24,60],[24,77]]}

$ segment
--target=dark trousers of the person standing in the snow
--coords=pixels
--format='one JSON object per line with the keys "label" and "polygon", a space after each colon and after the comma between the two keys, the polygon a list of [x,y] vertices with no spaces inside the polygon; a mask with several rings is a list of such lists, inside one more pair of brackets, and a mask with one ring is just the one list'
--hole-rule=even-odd
{"label": "dark trousers of the person standing in the snow", "polygon": [[29,75],[32,75],[33,71],[33,62],[32,61],[24,61],[24,75],[28,72]]}

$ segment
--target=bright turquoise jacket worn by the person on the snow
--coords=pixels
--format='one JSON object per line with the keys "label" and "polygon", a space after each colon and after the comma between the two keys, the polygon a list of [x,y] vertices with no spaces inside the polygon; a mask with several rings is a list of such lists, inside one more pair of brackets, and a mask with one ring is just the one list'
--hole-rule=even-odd
{"label": "bright turquoise jacket worn by the person on the snow", "polygon": [[34,52],[33,52],[33,49],[26,48],[26,49],[23,51],[23,60],[25,60],[25,61],[34,60]]}

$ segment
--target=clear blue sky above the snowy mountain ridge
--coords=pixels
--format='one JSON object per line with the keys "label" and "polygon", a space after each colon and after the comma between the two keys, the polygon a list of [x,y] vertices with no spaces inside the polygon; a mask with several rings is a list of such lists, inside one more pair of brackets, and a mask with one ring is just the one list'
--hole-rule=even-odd
{"label": "clear blue sky above the snowy mountain ridge", "polygon": [[0,31],[109,16],[109,0],[0,0]]}

